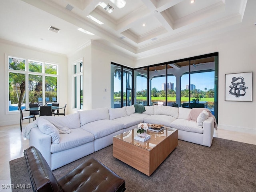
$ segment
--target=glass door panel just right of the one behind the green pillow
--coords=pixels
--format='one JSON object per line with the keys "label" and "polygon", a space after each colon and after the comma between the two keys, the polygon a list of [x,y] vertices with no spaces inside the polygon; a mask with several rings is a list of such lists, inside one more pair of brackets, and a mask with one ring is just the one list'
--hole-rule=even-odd
{"label": "glass door panel just right of the one behind the green pillow", "polygon": [[166,65],[149,68],[149,105],[166,105]]}

